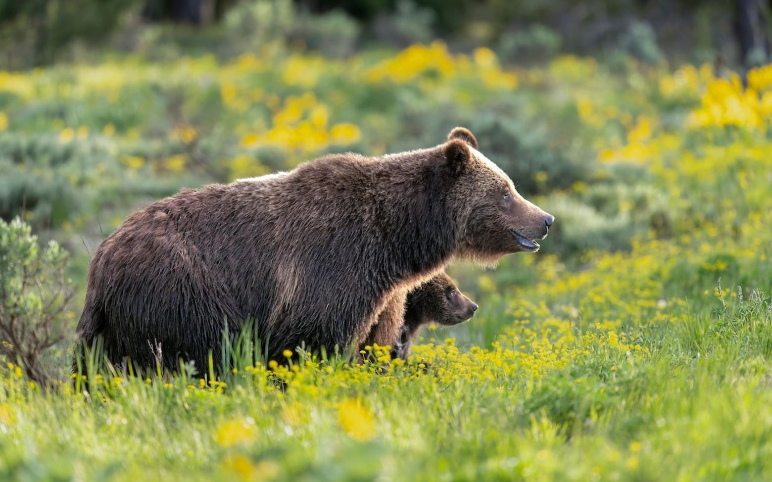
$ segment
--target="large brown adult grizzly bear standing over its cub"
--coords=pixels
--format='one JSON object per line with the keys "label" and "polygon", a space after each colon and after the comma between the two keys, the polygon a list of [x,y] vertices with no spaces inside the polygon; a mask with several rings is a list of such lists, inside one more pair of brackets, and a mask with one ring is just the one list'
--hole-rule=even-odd
{"label": "large brown adult grizzly bear standing over its cub", "polygon": [[[268,355],[348,348],[452,256],[492,263],[536,251],[553,217],[457,127],[434,148],[367,158],[337,154],[229,185],[184,189],[134,212],[97,249],[81,343],[99,335],[112,361],[152,366],[220,358],[222,330],[258,323]],[[393,310],[398,313],[398,310]],[[382,317],[384,318],[384,317]]]}

